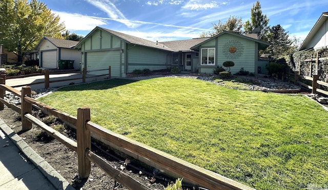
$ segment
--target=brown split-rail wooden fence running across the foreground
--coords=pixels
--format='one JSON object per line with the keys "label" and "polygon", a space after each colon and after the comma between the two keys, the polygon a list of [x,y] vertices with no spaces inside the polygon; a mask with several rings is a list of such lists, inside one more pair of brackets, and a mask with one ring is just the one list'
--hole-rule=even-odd
{"label": "brown split-rail wooden fence running across the foreground", "polygon": [[[1,81],[0,81],[1,82]],[[200,185],[208,189],[253,189],[247,185],[243,185],[232,179],[223,177],[219,174],[211,172],[210,170],[201,168],[184,160],[178,159],[172,155],[164,153],[160,150],[152,148],[148,145],[142,144],[138,141],[129,139],[125,136],[116,134],[115,132],[101,127],[90,121],[90,108],[83,107],[77,109],[77,118],[68,115],[67,113],[57,110],[47,104],[38,102],[30,97],[31,88],[23,87],[22,93],[15,90],[12,87],[6,85],[0,85],[0,94],[4,94],[4,91],[11,91],[16,96],[20,97],[21,108],[13,108],[16,112],[22,116],[22,130],[28,130],[31,128],[31,123],[34,123],[38,127],[45,130],[50,136],[57,139],[59,142],[65,144],[70,149],[77,152],[78,156],[78,175],[86,178],[90,175],[91,162],[98,165],[114,180],[120,182],[122,185],[129,189],[149,189],[145,185],[142,185],[135,179],[131,178],[127,174],[117,170],[104,159],[101,159],[95,153],[91,151],[91,135],[97,136],[97,139],[103,139],[115,144],[118,147],[127,149],[138,157],[146,158],[155,165],[161,166],[180,177],[184,177],[192,181],[194,184]],[[4,100],[4,97],[0,97],[0,110],[4,109],[4,104],[10,105]],[[42,111],[48,115],[53,115],[69,126],[75,126],[76,128],[76,141],[73,141],[64,135],[60,134],[55,129],[47,126],[42,121],[37,120],[31,115],[32,105],[39,107]]]}

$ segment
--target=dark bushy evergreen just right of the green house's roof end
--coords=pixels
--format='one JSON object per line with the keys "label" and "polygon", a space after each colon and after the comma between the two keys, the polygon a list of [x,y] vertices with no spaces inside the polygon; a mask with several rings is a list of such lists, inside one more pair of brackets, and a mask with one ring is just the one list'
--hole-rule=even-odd
{"label": "dark bushy evergreen just right of the green house's roof end", "polygon": [[288,32],[285,29],[280,25],[276,25],[271,27],[269,31],[268,42],[270,46],[267,50],[272,57],[278,58],[281,55],[286,55],[294,51],[293,42],[289,39]]}

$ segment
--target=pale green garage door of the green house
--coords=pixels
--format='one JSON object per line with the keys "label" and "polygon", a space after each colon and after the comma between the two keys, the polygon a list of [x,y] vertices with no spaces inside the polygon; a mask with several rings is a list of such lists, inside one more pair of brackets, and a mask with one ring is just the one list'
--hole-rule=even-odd
{"label": "pale green garage door of the green house", "polygon": [[[111,66],[112,77],[120,77],[120,58],[118,51],[100,51],[87,53],[87,70],[108,69]],[[90,74],[106,74],[108,71],[90,72]]]}

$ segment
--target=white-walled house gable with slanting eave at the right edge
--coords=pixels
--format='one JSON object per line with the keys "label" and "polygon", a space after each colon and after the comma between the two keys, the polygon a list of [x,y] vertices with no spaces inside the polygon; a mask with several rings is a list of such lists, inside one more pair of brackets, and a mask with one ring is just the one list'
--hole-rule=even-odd
{"label": "white-walled house gable with slanting eave at the right edge", "polygon": [[298,51],[317,50],[324,47],[328,47],[328,12],[321,14]]}

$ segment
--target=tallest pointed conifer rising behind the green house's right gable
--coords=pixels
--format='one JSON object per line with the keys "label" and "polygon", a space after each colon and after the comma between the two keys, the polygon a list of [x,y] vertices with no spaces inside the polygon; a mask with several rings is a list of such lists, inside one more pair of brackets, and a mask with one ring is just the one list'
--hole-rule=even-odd
{"label": "tallest pointed conifer rising behind the green house's right gable", "polygon": [[269,31],[269,18],[266,14],[262,14],[260,2],[257,1],[251,8],[251,21],[246,21],[244,24],[245,33],[252,33],[255,28],[259,29],[258,37],[262,41],[267,41]]}

